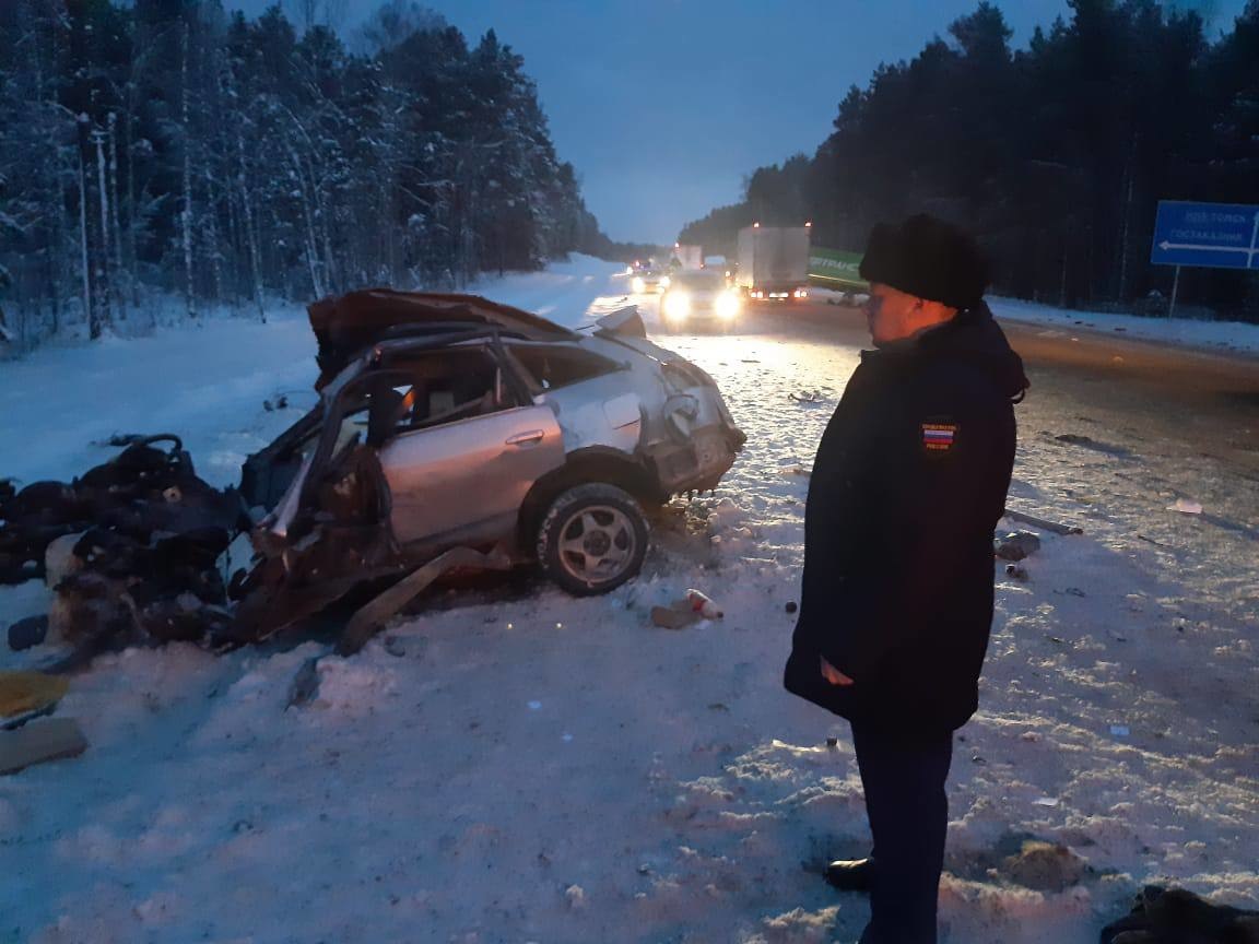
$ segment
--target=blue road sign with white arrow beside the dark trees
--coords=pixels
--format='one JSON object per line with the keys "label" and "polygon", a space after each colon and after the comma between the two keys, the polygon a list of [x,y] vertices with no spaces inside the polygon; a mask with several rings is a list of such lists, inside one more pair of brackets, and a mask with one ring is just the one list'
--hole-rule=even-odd
{"label": "blue road sign with white arrow beside the dark trees", "polygon": [[1155,266],[1259,269],[1259,206],[1160,200]]}

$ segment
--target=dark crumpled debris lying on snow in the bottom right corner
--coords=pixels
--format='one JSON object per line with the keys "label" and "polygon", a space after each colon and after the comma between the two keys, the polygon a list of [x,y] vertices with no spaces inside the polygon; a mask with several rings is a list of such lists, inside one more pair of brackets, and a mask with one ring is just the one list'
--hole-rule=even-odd
{"label": "dark crumpled debris lying on snow in the bottom right corner", "polygon": [[1147,885],[1132,911],[1102,929],[1100,944],[1259,941],[1259,911],[1215,905],[1183,889]]}

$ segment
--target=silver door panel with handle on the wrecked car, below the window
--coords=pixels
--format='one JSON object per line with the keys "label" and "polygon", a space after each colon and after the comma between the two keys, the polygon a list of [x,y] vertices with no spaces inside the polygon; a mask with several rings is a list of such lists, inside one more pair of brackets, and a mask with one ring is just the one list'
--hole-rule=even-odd
{"label": "silver door panel with handle on the wrecked car, below the window", "polygon": [[564,437],[549,407],[511,407],[403,432],[380,464],[400,544],[490,541],[514,531],[534,482],[564,464]]}

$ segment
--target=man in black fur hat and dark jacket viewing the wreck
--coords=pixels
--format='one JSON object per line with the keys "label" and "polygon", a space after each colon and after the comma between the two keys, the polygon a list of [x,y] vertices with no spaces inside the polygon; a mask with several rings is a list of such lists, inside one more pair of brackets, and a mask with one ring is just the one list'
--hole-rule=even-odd
{"label": "man in black fur hat and dark jacket viewing the wreck", "polygon": [[934,944],[944,780],[978,704],[1027,378],[961,230],[925,215],[875,227],[861,276],[875,350],[817,449],[784,682],[852,725],[874,851],[827,880],[870,892],[862,944]]}

